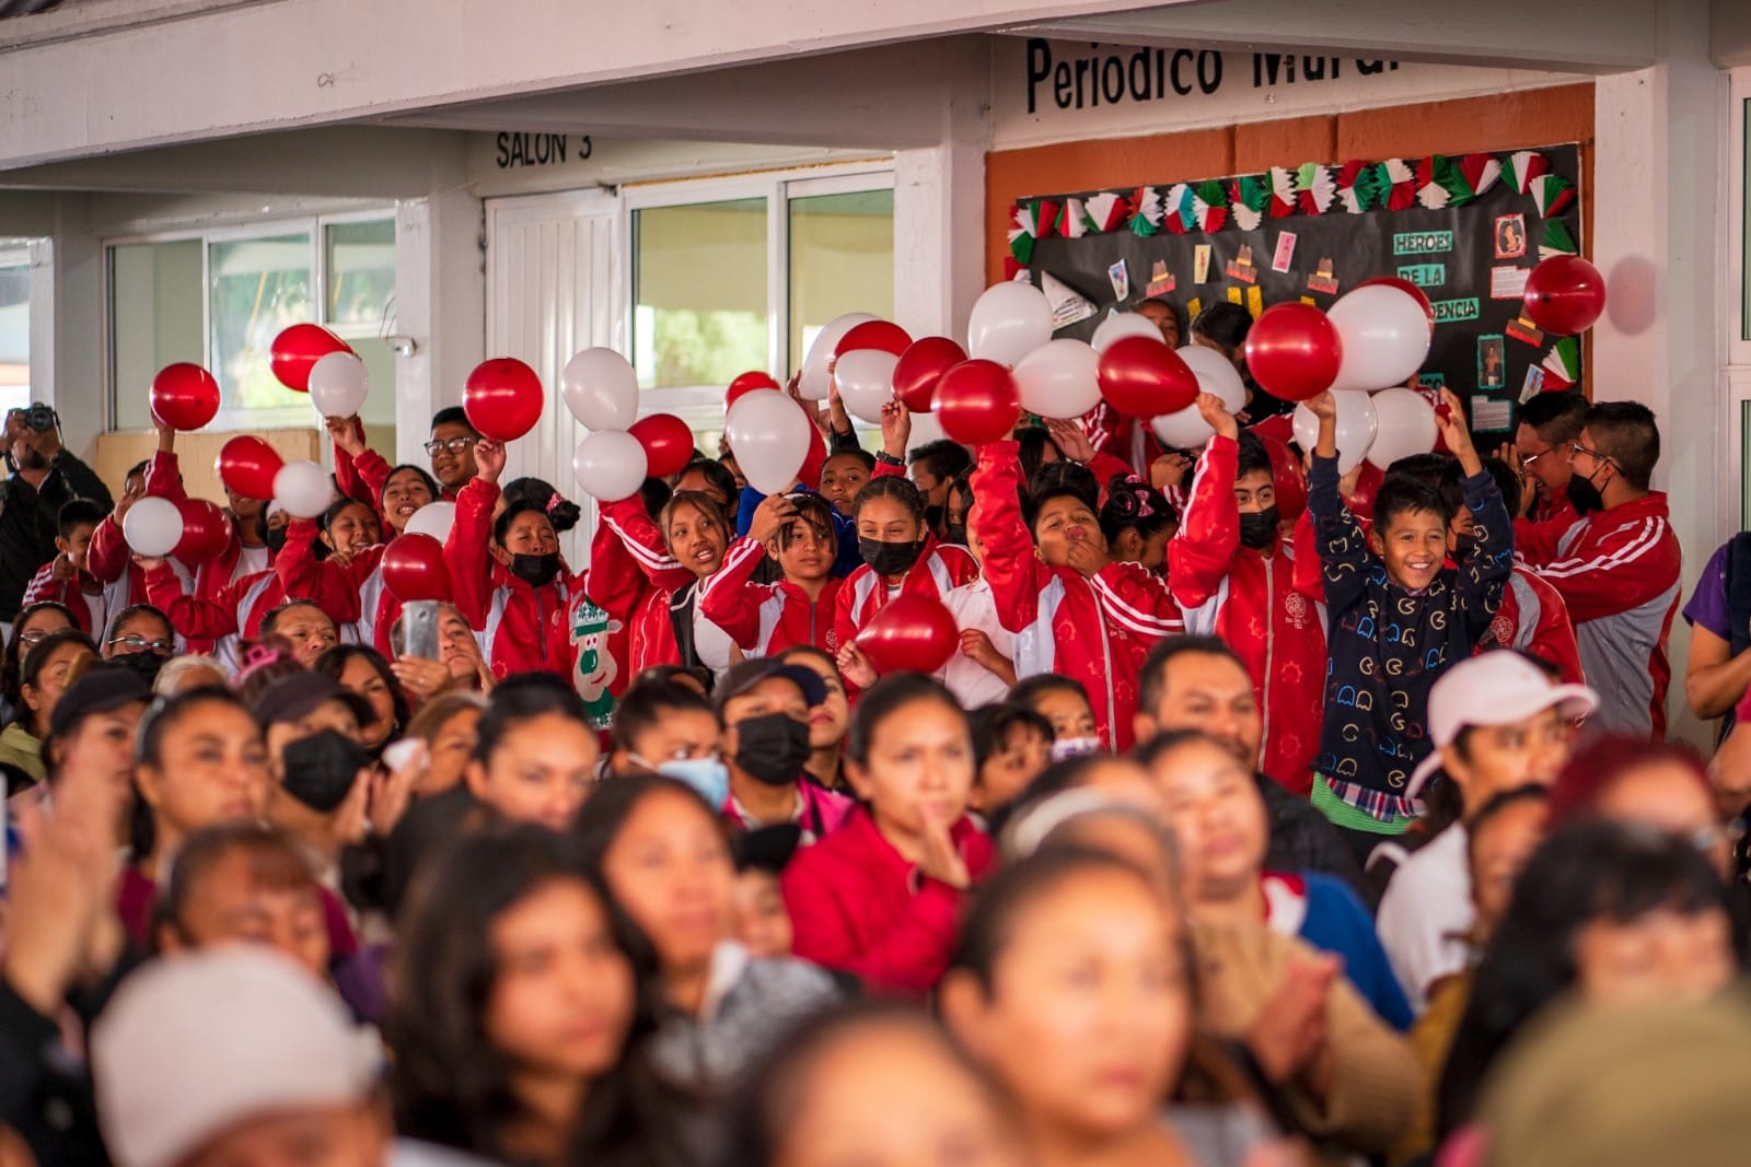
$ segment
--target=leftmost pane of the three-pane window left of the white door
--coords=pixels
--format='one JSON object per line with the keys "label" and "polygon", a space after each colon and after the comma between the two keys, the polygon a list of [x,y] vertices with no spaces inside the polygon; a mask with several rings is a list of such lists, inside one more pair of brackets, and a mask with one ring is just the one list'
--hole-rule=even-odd
{"label": "leftmost pane of the three-pane window left of the white door", "polygon": [[145,390],[177,360],[205,362],[201,240],[110,248],[110,392],[116,429],[151,429]]}

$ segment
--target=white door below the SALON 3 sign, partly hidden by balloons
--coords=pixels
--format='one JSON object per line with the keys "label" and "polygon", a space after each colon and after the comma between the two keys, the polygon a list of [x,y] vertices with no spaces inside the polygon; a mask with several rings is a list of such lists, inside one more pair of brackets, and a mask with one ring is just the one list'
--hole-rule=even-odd
{"label": "white door below the SALON 3 sign, partly hidden by balloons", "polygon": [[541,423],[510,446],[504,481],[541,478],[583,506],[560,539],[573,570],[588,562],[595,502],[571,474],[585,430],[559,374],[578,350],[618,339],[616,222],[618,199],[604,191],[487,199],[487,355],[524,360],[548,392]]}

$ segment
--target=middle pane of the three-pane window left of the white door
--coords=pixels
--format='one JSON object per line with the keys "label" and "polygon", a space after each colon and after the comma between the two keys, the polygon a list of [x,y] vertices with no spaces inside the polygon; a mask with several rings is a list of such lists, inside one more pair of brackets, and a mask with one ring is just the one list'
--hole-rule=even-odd
{"label": "middle pane of the three-pane window left of the white door", "polygon": [[212,362],[224,409],[289,409],[303,394],[280,385],[268,352],[282,329],[312,320],[310,233],[208,243]]}

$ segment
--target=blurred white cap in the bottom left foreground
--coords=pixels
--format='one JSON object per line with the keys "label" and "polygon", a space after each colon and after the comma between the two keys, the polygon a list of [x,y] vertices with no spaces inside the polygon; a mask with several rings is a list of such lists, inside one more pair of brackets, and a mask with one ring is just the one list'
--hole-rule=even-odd
{"label": "blurred white cap in the bottom left foreground", "polygon": [[338,997],[254,945],[154,961],[91,1034],[98,1120],[119,1167],[172,1167],[257,1115],[362,1102],[380,1060]]}

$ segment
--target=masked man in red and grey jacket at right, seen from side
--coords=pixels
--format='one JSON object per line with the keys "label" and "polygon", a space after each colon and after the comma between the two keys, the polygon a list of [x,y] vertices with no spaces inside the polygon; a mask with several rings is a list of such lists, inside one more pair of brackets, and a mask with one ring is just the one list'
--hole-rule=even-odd
{"label": "masked man in red and grey jacket at right, seen from side", "polygon": [[1569,450],[1578,520],[1518,523],[1516,548],[1569,605],[1600,728],[1665,738],[1665,644],[1677,614],[1683,551],[1665,493],[1649,490],[1660,427],[1648,406],[1604,401]]}

